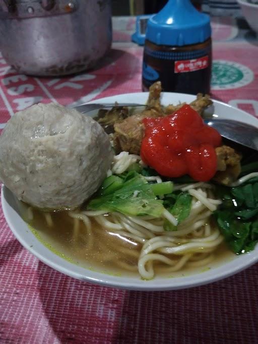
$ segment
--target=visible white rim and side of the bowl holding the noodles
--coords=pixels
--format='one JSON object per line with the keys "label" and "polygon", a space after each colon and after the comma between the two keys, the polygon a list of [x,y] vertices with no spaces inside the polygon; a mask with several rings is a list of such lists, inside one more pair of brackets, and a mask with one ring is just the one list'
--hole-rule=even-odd
{"label": "visible white rim and side of the bowl holding the noodles", "polygon": [[[118,103],[132,102],[144,104],[147,99],[148,93],[131,93],[98,99],[95,103],[114,103],[117,101]],[[168,105],[169,103],[177,104],[179,101],[189,103],[193,99],[195,99],[195,96],[192,95],[164,93],[162,96],[162,103],[164,105]],[[256,118],[222,102],[214,101],[213,113],[215,113],[215,116],[243,121],[258,128],[258,120]],[[190,276],[187,275],[174,278],[156,277],[151,281],[143,281],[140,277],[126,277],[126,274],[121,277],[112,276],[70,263],[44,246],[28,229],[27,224],[19,214],[15,196],[5,186],[2,186],[2,206],[6,220],[16,238],[38,259],[68,276],[82,281],[102,284],[104,286],[145,291],[183,289],[226,278],[258,261],[257,245],[255,250],[250,253],[239,256],[235,255],[232,260],[227,260],[221,265],[214,265],[209,270],[200,269],[199,273],[191,274]]]}

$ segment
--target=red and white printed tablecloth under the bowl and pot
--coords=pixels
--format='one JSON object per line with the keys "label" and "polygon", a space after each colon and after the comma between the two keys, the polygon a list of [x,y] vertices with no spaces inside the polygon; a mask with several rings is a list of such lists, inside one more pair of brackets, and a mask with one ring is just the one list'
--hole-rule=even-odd
{"label": "red and white printed tablecloth under the bowl and pot", "polygon": [[[258,40],[243,19],[213,18],[212,97],[258,117]],[[19,75],[0,57],[0,130],[34,103],[141,91],[135,18],[113,19],[110,54],[66,78]],[[26,86],[25,86],[26,85]],[[258,343],[258,266],[210,285],[135,292],[74,280],[32,256],[0,209],[0,343]]]}

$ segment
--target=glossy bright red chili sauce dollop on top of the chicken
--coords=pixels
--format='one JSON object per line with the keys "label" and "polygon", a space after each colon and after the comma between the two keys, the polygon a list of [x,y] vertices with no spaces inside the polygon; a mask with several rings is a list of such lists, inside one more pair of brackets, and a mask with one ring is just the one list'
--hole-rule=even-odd
{"label": "glossy bright red chili sauce dollop on top of the chicken", "polygon": [[206,125],[197,111],[186,104],[166,117],[144,118],[143,123],[144,163],[166,177],[188,174],[198,181],[214,177],[215,148],[221,145],[221,135]]}

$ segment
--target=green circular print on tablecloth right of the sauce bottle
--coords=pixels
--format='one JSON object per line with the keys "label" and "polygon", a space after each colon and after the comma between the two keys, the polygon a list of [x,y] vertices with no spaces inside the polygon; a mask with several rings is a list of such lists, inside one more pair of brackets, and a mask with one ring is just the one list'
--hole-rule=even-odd
{"label": "green circular print on tablecloth right of the sauce bottle", "polygon": [[230,90],[252,81],[253,72],[243,64],[226,60],[214,60],[212,63],[213,90]]}

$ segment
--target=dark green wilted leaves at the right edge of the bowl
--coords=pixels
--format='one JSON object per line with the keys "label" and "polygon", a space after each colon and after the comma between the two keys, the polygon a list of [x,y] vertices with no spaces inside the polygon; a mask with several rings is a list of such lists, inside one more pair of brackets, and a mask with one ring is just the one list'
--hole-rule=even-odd
{"label": "dark green wilted leaves at the right edge of the bowl", "polygon": [[218,193],[223,202],[215,217],[229,247],[238,254],[253,250],[258,242],[257,178]]}

